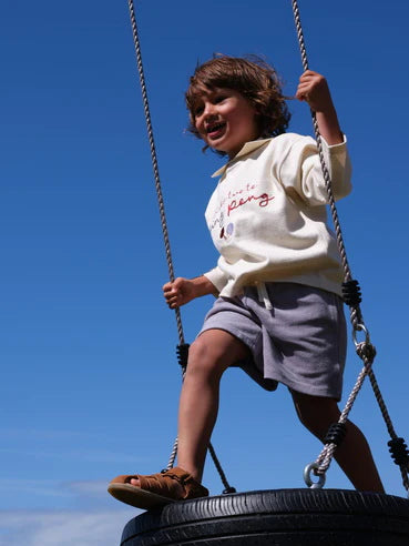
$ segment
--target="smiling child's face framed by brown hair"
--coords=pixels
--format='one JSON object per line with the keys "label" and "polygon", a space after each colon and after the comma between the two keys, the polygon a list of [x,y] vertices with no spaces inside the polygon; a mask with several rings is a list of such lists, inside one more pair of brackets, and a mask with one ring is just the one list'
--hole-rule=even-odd
{"label": "smiling child's face framed by brown hair", "polygon": [[193,111],[200,136],[232,159],[245,142],[258,138],[256,111],[242,93],[228,88],[204,91]]}

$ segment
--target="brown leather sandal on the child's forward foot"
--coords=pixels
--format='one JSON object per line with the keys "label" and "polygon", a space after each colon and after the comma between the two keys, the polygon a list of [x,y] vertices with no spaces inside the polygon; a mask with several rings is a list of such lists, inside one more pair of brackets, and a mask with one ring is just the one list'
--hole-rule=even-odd
{"label": "brown leather sandal on the child's forward foot", "polygon": [[[132,485],[132,478],[139,479],[141,486]],[[117,501],[144,509],[208,495],[206,487],[177,466],[149,476],[117,476],[110,483],[108,491]]]}

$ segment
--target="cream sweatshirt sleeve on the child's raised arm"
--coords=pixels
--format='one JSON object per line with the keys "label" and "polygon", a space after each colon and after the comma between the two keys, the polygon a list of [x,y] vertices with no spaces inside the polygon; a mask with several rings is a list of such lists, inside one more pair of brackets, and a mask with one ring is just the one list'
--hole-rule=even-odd
{"label": "cream sweatshirt sleeve on the child's raised arm", "polygon": [[[323,153],[327,165],[334,198],[338,201],[351,191],[351,164],[347,150],[347,140],[340,144],[328,145],[321,138]],[[283,161],[276,165],[278,180],[289,193],[296,191],[308,205],[328,203],[317,143],[310,136],[296,138],[284,151]]]}

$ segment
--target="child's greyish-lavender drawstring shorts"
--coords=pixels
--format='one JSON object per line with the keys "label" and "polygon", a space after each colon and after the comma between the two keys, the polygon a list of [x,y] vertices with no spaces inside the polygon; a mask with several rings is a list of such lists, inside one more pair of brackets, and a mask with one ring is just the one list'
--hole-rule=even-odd
{"label": "child's greyish-lavender drawstring shorts", "polygon": [[256,287],[218,297],[207,313],[206,330],[224,330],[250,350],[237,362],[267,391],[278,383],[314,396],[340,400],[346,358],[346,321],[341,299],[296,283],[266,283],[273,305],[259,302]]}

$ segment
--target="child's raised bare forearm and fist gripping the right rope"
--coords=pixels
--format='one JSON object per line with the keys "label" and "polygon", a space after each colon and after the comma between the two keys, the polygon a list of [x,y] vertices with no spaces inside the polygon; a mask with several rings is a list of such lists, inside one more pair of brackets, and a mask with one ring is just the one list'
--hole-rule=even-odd
{"label": "child's raised bare forearm and fist gripping the right rope", "polygon": [[335,109],[327,80],[313,70],[307,70],[299,79],[296,98],[308,102],[316,113],[319,133],[328,144],[344,142],[337,111]]}

